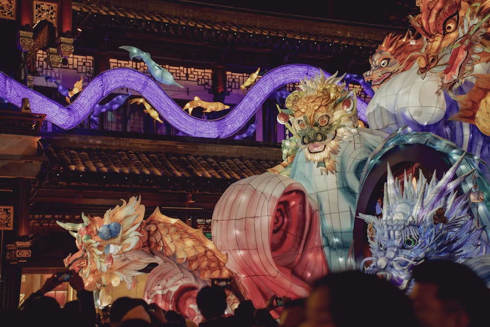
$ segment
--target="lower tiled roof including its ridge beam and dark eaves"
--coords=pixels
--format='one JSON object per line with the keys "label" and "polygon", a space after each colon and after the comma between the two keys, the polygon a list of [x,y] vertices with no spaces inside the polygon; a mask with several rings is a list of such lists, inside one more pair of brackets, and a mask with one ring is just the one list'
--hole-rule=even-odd
{"label": "lower tiled roof including its ridge beam and dark eaves", "polygon": [[[209,140],[211,144],[196,145],[186,143],[193,139],[185,137],[173,137],[175,141],[123,142],[102,138],[107,140],[104,145],[100,137],[96,143],[73,137],[78,141],[55,137],[42,140],[49,160],[50,183],[221,193],[229,184],[265,173],[282,161],[280,145],[272,144],[267,145],[270,149],[258,152],[260,147],[254,151],[231,140]],[[240,152],[243,155],[237,155]]]}

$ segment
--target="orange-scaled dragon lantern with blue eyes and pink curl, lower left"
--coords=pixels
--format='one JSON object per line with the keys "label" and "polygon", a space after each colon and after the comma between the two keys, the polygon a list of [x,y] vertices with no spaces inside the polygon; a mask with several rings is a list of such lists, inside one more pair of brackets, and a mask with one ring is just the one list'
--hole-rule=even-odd
{"label": "orange-scaled dragon lantern with blue eyes and pink curl, lower left", "polygon": [[[140,201],[136,197],[123,201],[103,218],[82,214],[80,224],[57,222],[75,237],[79,249],[65,259],[65,266],[83,277],[103,307],[112,301],[113,288],[122,282],[133,288],[135,277],[146,274],[141,270],[156,264],[147,277],[144,300],[198,321],[196,294],[211,278],[233,277],[225,267],[228,257],[201,229],[167,217],[158,208],[144,219]],[[232,294],[229,304],[230,308],[238,304]]]}

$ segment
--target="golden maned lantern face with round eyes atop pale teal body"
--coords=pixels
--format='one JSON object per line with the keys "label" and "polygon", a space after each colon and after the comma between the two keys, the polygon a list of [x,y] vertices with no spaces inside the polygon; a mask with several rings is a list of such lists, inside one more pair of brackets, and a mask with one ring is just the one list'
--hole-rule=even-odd
{"label": "golden maned lantern face with round eyes atop pale teal body", "polygon": [[356,97],[339,83],[343,76],[325,78],[323,72],[311,80],[305,79],[286,98],[287,109],[280,115],[289,115],[288,128],[299,140],[308,161],[319,163],[327,173],[335,173],[335,155],[339,142],[351,136],[357,128]]}

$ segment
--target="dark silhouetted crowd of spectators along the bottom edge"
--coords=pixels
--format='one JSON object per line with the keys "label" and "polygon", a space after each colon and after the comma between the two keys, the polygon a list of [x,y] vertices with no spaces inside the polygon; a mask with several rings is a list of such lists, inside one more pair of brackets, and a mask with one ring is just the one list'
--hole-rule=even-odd
{"label": "dark silhouetted crowd of spectators along the bottom edge", "polygon": [[[330,273],[311,285],[307,298],[270,295],[266,307],[238,296],[226,313],[227,294],[219,285],[204,286],[196,296],[202,320],[197,325],[179,312],[155,303],[121,297],[97,311],[93,293],[76,273],[67,281],[77,300],[60,307],[45,294],[62,281],[49,277],[17,309],[3,309],[2,326],[15,327],[481,327],[488,325],[490,292],[463,264],[425,261],[413,268],[413,287],[405,292],[386,279],[360,271]],[[271,310],[280,312],[274,319]]]}

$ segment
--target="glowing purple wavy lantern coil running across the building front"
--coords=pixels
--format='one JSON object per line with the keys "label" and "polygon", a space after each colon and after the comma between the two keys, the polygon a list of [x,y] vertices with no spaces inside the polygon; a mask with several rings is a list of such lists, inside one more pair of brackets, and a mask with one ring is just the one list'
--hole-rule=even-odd
{"label": "glowing purple wavy lantern coil running across the building front", "polygon": [[[118,88],[139,92],[174,128],[195,137],[224,138],[236,133],[255,114],[271,93],[278,88],[311,79],[319,68],[309,65],[285,65],[264,74],[230,112],[217,120],[201,120],[189,116],[162,90],[151,77],[134,69],[117,68],[105,71],[92,79],[78,98],[67,107],[0,73],[0,97],[21,107],[22,98],[29,98],[33,113],[46,114],[46,120],[64,129],[80,124],[94,106]],[[326,76],[330,74],[325,73]],[[357,99],[359,118],[366,121],[366,102]]]}

